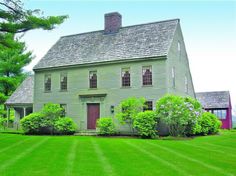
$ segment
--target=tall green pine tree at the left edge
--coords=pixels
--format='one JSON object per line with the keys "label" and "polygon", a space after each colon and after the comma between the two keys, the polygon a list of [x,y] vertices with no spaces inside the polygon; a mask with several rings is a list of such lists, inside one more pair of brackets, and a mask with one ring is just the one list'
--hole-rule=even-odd
{"label": "tall green pine tree at the left edge", "polygon": [[[24,78],[23,67],[32,60],[19,34],[29,30],[52,30],[67,16],[42,15],[39,9],[24,9],[21,0],[0,0],[0,116],[3,103]],[[5,108],[4,108],[5,109]]]}

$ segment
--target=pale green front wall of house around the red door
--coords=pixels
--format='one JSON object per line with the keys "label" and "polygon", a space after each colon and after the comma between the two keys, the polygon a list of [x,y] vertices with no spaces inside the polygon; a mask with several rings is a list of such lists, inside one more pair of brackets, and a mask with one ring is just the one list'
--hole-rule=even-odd
{"label": "pale green front wall of house around the red door", "polygon": [[[142,66],[152,66],[153,85],[142,86]],[[131,87],[121,87],[121,69],[130,68]],[[98,88],[89,89],[89,71],[97,70]],[[60,91],[60,74],[68,74],[68,91]],[[52,91],[44,92],[44,75],[52,76]],[[100,103],[100,117],[113,116],[111,105],[118,105],[127,97],[145,97],[155,102],[166,89],[166,60],[152,59],[139,62],[107,64],[100,66],[57,69],[51,71],[36,71],[34,91],[34,111],[39,111],[45,103],[53,102],[67,104],[67,116],[78,123],[80,129],[87,128],[87,103]],[[81,94],[107,94],[104,98],[80,98]],[[125,130],[123,128],[122,130]]]}

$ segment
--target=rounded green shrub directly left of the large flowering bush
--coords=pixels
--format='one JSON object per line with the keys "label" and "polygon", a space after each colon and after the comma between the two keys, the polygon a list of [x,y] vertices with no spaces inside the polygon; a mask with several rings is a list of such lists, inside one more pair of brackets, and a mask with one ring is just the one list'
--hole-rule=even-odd
{"label": "rounded green shrub directly left of the large flowering bush", "polygon": [[134,128],[142,138],[154,138],[157,130],[157,116],[153,111],[140,112],[134,118]]}

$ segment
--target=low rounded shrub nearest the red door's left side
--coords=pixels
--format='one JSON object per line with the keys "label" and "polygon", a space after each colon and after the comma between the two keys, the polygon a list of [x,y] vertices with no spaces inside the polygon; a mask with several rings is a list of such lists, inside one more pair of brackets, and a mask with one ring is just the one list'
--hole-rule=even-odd
{"label": "low rounded shrub nearest the red door's left side", "polygon": [[76,123],[69,117],[62,117],[55,121],[54,130],[56,134],[74,134]]}

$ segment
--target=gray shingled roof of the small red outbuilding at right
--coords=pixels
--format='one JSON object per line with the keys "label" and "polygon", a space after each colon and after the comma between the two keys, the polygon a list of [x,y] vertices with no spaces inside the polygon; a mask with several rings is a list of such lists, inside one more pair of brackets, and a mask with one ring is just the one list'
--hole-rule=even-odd
{"label": "gray shingled roof of the small red outbuilding at right", "polygon": [[230,105],[229,91],[199,92],[196,93],[196,98],[205,109],[228,108]]}

